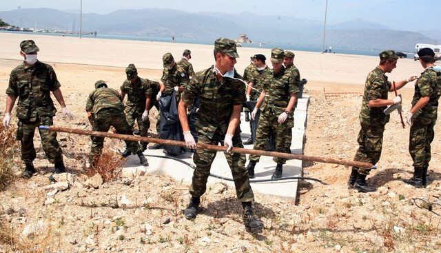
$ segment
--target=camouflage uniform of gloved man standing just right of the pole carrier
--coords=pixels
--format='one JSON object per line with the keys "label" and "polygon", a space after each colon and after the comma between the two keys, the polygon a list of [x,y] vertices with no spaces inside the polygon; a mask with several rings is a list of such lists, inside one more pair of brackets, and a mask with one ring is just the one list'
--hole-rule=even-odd
{"label": "camouflage uniform of gloved man standing just right of the pole carrier", "polygon": [[[282,50],[283,54],[283,50]],[[265,143],[269,141],[269,137],[274,132],[276,133],[276,152],[291,153],[286,147],[291,146],[291,140],[286,138],[288,132],[291,132],[289,123],[285,121],[279,124],[278,117],[282,114],[289,103],[291,94],[298,92],[298,87],[294,84],[294,78],[291,72],[282,69],[278,73],[271,70],[265,76],[263,81],[263,90],[265,90],[265,100],[260,106],[260,119],[256,132],[256,142],[254,143],[254,150],[264,150]],[[292,112],[289,112],[292,114]],[[249,161],[258,162],[260,156],[252,154],[249,156]],[[278,164],[285,164],[286,159],[274,157],[273,161]]]}

